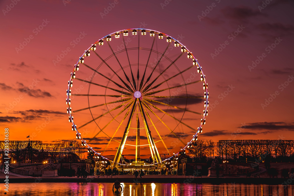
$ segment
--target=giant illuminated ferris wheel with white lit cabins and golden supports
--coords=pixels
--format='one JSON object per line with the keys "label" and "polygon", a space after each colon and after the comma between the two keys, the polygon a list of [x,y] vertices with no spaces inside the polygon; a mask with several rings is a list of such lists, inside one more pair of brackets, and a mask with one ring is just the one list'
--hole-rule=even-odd
{"label": "giant illuminated ferris wheel with white lit cabins and golden supports", "polygon": [[68,84],[72,130],[112,166],[124,163],[124,149],[135,151],[136,161],[141,149],[153,164],[163,161],[161,153],[177,155],[197,140],[208,114],[208,85],[197,59],[176,39],[149,29],[99,39],[79,58]]}

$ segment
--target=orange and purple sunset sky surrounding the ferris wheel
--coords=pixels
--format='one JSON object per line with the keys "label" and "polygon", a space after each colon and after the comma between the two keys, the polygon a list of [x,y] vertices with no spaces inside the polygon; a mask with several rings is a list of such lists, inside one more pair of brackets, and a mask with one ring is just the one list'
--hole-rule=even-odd
{"label": "orange and purple sunset sky surrounding the ferris wheel", "polygon": [[[25,140],[28,135],[31,140],[49,143],[75,139],[66,113],[66,89],[75,63],[98,39],[131,28],[166,33],[198,59],[209,84],[209,114],[199,139],[293,139],[293,1],[13,2],[0,1],[2,140],[4,128],[9,128],[10,140]],[[117,50],[121,43],[122,39],[113,48]],[[164,48],[167,43],[163,43],[158,42],[158,48]],[[86,68],[79,71],[84,78],[93,74]],[[200,79],[199,74],[197,77]],[[103,80],[100,76],[95,79]],[[181,81],[172,84],[176,83]],[[197,87],[197,91],[187,92],[203,94],[202,82]],[[78,100],[72,101],[73,110],[87,107],[88,103]],[[97,105],[101,100],[96,101]],[[203,103],[198,112],[204,109]],[[193,104],[189,105],[196,110],[197,103]],[[80,123],[87,122],[88,117],[82,114],[74,116]],[[192,115],[186,118],[195,129],[200,119]],[[94,126],[84,134],[87,140],[96,135],[98,128]],[[188,141],[193,135],[190,131],[178,133]],[[169,148],[173,141],[172,136],[166,138]],[[101,135],[93,145],[99,152],[105,145],[98,143],[107,142]],[[111,143],[106,155],[113,155],[117,145]],[[179,148],[170,150],[177,152]],[[160,153],[164,150],[160,148]],[[133,158],[134,152],[127,152]]]}

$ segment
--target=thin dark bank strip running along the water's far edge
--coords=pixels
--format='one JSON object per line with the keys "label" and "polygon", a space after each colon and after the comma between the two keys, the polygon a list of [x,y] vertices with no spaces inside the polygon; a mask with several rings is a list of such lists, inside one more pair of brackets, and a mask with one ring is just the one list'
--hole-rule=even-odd
{"label": "thin dark bank strip running along the water's far edge", "polygon": [[[4,178],[0,179],[0,182],[4,182]],[[30,178],[9,178],[9,183],[36,183],[36,182],[96,182],[113,183],[116,181],[116,177],[113,178],[73,178],[73,177],[30,177]],[[268,184],[268,185],[294,185],[294,179],[287,178],[245,178],[245,177],[146,177],[146,178],[126,178],[118,177],[118,181],[121,183],[211,183],[211,184],[221,184],[221,183],[237,183],[237,184]]]}

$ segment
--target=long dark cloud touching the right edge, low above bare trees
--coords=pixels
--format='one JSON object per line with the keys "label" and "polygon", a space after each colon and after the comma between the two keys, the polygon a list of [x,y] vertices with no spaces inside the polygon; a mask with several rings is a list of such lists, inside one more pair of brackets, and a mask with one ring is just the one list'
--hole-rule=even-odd
{"label": "long dark cloud touching the right edge, low above bare trees", "polygon": [[287,124],[284,122],[261,122],[261,123],[249,123],[249,125],[241,126],[239,128],[277,131],[277,130],[294,130],[294,125]]}

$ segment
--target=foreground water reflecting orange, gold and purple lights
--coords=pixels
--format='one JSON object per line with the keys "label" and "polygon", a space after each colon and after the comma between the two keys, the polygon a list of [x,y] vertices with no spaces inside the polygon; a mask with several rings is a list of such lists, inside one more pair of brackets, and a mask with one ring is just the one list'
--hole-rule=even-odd
{"label": "foreground water reflecting orange, gold and purple lights", "polygon": [[[184,183],[122,183],[124,191],[121,196],[294,196],[294,186],[288,185],[247,185],[227,184],[214,185],[184,184]],[[50,195],[50,196],[108,196],[116,195],[112,192],[113,183],[9,183],[7,195]],[[0,195],[4,195],[4,188],[0,187]]]}

